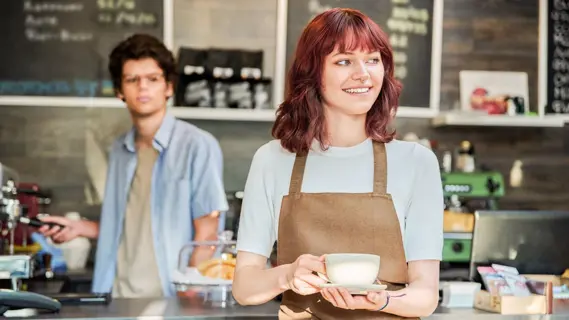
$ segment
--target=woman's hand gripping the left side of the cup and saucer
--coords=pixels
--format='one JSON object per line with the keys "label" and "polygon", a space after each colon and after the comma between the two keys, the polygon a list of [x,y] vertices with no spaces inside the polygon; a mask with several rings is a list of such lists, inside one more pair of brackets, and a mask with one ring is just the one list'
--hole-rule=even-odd
{"label": "woman's hand gripping the left side of the cup and saucer", "polygon": [[320,284],[326,280],[315,275],[313,272],[326,274],[324,256],[317,257],[310,254],[303,254],[289,265],[287,273],[288,289],[300,294],[310,295],[320,292]]}

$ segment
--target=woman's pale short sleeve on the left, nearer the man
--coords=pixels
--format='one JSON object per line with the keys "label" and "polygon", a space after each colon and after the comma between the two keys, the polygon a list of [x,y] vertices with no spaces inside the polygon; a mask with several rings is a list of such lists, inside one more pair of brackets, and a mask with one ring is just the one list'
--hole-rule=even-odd
{"label": "woman's pale short sleeve on the left, nearer the man", "polygon": [[274,183],[270,171],[270,149],[259,148],[251,162],[245,183],[237,250],[256,253],[265,257],[271,255],[275,239],[273,192]]}

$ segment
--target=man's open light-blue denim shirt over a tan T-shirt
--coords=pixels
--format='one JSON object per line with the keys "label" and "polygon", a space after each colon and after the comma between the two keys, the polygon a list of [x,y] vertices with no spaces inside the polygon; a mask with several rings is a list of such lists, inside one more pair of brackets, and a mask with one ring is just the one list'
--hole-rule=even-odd
{"label": "man's open light-blue denim shirt over a tan T-shirt", "polygon": [[[118,138],[109,156],[92,291],[111,292],[130,185],[137,166],[134,128]],[[153,141],[159,157],[152,173],[151,219],[156,261],[165,296],[174,296],[172,273],[180,249],[193,240],[193,219],[228,210],[223,157],[217,140],[166,115]]]}

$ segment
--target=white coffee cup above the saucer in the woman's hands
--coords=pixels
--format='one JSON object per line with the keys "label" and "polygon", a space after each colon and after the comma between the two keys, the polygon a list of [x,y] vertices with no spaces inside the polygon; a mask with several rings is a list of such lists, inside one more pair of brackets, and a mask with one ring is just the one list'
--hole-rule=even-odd
{"label": "white coffee cup above the saucer in the woman's hands", "polygon": [[379,275],[380,257],[374,254],[333,253],[326,255],[325,263],[330,282],[369,285]]}

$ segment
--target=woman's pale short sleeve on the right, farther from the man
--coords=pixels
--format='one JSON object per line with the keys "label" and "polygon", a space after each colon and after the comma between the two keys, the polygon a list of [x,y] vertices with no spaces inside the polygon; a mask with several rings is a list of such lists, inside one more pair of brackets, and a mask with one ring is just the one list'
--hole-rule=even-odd
{"label": "woman's pale short sleeve on the right, farther from the man", "polygon": [[415,178],[405,219],[407,261],[442,260],[444,198],[435,154],[420,145],[414,150]]}

